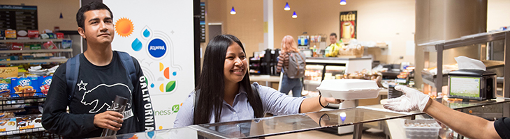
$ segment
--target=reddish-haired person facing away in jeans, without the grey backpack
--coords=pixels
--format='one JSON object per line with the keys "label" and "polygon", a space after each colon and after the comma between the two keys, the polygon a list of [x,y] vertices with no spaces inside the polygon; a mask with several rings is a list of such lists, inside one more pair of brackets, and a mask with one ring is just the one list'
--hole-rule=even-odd
{"label": "reddish-haired person facing away in jeans, without the grey backpack", "polygon": [[291,35],[286,35],[282,40],[282,51],[278,56],[277,72],[284,72],[282,79],[282,87],[279,89],[280,92],[289,95],[289,91],[292,90],[293,97],[301,97],[301,91],[303,91],[303,83],[298,79],[291,79],[282,68],[289,66],[289,54],[291,52],[299,52],[296,42]]}

